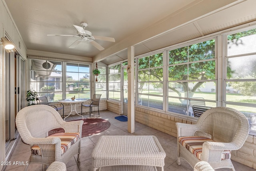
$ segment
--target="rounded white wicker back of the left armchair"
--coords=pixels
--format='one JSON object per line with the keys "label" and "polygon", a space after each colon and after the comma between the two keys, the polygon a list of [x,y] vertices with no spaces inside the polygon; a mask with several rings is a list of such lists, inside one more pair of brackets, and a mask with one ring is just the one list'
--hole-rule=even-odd
{"label": "rounded white wicker back of the left armchair", "polygon": [[58,111],[48,105],[31,105],[21,109],[16,116],[16,126],[22,140],[31,137],[43,138],[48,131],[58,128],[65,122]]}

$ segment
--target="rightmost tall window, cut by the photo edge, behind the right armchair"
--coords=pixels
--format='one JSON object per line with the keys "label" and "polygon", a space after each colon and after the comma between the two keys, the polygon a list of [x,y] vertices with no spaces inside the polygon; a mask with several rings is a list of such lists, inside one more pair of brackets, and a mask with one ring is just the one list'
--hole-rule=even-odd
{"label": "rightmost tall window, cut by the photo edge, behind the right armchair", "polygon": [[241,111],[256,133],[256,28],[226,35],[224,104]]}

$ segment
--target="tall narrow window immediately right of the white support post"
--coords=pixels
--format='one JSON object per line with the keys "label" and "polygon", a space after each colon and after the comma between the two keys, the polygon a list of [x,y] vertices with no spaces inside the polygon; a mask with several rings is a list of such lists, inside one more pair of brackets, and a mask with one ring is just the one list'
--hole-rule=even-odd
{"label": "tall narrow window immediately right of the white support post", "polygon": [[138,58],[138,105],[163,109],[163,53]]}

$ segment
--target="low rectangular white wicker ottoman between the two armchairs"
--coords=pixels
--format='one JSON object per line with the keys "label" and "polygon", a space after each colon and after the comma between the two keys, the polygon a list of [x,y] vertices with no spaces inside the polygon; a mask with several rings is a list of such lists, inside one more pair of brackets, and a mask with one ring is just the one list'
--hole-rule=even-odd
{"label": "low rectangular white wicker ottoman between the two armchairs", "polygon": [[153,135],[106,135],[100,137],[92,151],[94,171],[114,165],[162,167],[166,154]]}

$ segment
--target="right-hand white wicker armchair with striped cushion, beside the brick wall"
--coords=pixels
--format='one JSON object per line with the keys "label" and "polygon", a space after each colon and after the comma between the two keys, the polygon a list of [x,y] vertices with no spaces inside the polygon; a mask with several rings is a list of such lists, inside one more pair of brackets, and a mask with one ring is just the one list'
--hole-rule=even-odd
{"label": "right-hand white wicker armchair with striped cushion, beside the brick wall", "polygon": [[[249,122],[240,111],[213,107],[206,110],[195,125],[176,123],[176,127],[178,165],[182,157],[192,167],[199,161],[207,161],[213,169],[230,168],[235,171],[230,159],[231,151],[240,149],[249,133]],[[194,148],[195,143],[198,149]]]}

